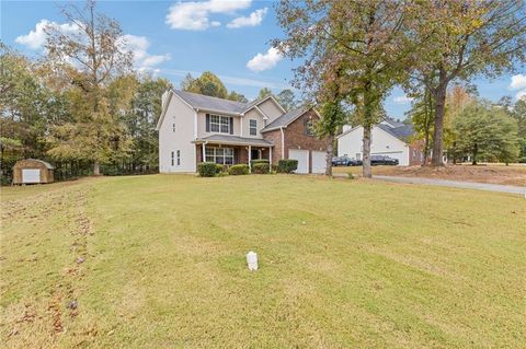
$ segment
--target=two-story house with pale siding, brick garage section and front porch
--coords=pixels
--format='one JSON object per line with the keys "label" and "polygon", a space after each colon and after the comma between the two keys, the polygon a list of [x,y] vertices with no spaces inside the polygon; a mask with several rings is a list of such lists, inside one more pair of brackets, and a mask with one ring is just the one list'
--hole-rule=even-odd
{"label": "two-story house with pale siding, brick garage section and front porch", "polygon": [[312,108],[286,112],[273,97],[250,103],[169,90],[162,95],[159,172],[196,172],[197,164],[298,160],[297,173],[323,173],[328,141],[318,139]]}

